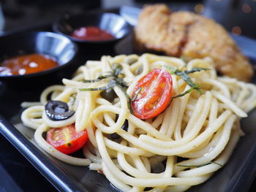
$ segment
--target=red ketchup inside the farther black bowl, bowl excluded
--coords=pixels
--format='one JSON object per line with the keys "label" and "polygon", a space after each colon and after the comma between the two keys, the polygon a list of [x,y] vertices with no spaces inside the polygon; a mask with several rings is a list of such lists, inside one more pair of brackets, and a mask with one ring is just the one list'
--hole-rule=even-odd
{"label": "red ketchup inside the farther black bowl, bowl excluded", "polygon": [[108,31],[104,31],[94,26],[77,28],[75,29],[75,31],[72,33],[71,36],[76,39],[89,40],[89,41],[115,39],[115,37],[113,37],[112,34],[108,33]]}

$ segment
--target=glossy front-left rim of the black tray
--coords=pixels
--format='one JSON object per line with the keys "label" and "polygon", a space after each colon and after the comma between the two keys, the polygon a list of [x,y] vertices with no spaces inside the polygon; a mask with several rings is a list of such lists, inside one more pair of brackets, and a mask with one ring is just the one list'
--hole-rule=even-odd
{"label": "glossy front-left rim of the black tray", "polygon": [[[86,191],[0,115],[0,133],[59,191]],[[52,172],[51,170],[54,170]]]}

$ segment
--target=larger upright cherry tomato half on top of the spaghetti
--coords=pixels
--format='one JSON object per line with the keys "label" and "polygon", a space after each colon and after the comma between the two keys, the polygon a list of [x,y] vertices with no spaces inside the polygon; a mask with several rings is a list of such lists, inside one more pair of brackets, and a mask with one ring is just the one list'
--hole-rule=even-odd
{"label": "larger upright cherry tomato half on top of the spaghetti", "polygon": [[140,119],[154,118],[170,103],[173,79],[165,69],[153,69],[142,77],[132,94],[132,110]]}

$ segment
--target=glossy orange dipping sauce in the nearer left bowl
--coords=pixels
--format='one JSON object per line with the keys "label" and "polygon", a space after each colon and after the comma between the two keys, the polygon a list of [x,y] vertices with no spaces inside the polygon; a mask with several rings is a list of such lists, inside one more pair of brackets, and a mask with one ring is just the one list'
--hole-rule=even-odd
{"label": "glossy orange dipping sauce in the nearer left bowl", "polygon": [[49,55],[38,53],[8,58],[0,64],[0,75],[31,74],[42,72],[59,64]]}

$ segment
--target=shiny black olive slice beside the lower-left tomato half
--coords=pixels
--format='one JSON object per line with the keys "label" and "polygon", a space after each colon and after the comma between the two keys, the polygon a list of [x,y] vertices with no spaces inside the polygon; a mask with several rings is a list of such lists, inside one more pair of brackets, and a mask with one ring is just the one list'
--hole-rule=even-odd
{"label": "shiny black olive slice beside the lower-left tomato half", "polygon": [[66,120],[75,112],[70,111],[67,103],[63,101],[48,101],[45,105],[45,113],[50,120]]}

